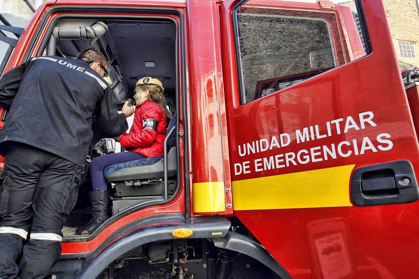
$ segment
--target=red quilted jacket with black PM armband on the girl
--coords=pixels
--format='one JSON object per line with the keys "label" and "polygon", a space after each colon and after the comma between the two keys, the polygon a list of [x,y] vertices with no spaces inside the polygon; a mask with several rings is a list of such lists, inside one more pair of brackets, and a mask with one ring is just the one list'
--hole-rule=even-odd
{"label": "red quilted jacket with black PM armband on the girl", "polygon": [[[143,129],[143,120],[152,118],[158,121],[157,132]],[[167,120],[163,110],[152,101],[144,101],[135,107],[134,121],[129,133],[124,133],[119,142],[126,150],[146,157],[163,156],[163,141],[167,132]]]}

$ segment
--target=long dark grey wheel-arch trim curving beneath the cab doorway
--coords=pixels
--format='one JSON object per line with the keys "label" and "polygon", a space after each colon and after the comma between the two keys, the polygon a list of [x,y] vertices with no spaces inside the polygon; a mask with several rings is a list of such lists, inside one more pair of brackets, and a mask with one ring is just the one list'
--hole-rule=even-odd
{"label": "long dark grey wheel-arch trim curving beneath the cab doorway", "polygon": [[89,262],[88,266],[78,278],[96,278],[112,261],[135,247],[154,241],[177,239],[172,235],[172,231],[177,228],[191,229],[193,233],[188,238],[211,238],[213,233],[221,233],[220,237],[227,235],[230,225],[230,221],[223,216],[191,219],[186,219],[184,216],[161,216],[134,228],[133,232],[107,246],[94,259],[93,255],[90,256],[90,259],[85,261]]}

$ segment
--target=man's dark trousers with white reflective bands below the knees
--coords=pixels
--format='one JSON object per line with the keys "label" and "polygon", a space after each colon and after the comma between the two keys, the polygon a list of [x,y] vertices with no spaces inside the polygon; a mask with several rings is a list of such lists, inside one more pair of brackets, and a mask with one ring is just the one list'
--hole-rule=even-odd
{"label": "man's dark trousers with white reflective bands below the knees", "polygon": [[55,154],[10,143],[0,177],[0,277],[51,278],[81,171]]}

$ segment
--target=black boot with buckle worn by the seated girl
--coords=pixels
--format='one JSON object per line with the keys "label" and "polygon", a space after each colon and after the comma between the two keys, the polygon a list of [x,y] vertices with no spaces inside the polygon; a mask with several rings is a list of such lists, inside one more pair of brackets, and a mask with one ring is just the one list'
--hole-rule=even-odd
{"label": "black boot with buckle worn by the seated girl", "polygon": [[96,188],[96,191],[89,192],[90,201],[92,203],[93,216],[92,219],[76,230],[76,234],[80,235],[87,230],[89,234],[93,233],[108,218],[108,191]]}

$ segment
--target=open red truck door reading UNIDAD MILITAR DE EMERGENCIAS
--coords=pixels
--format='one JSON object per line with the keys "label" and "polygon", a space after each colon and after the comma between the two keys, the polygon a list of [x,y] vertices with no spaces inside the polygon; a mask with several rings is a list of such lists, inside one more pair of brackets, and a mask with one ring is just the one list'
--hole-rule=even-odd
{"label": "open red truck door reading UNIDAD MILITAR DE EMERGENCIAS", "polygon": [[221,3],[234,214],[293,277],[409,277],[418,142],[383,4],[318,2]]}

